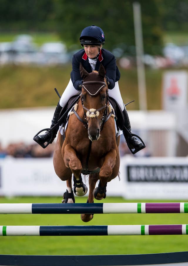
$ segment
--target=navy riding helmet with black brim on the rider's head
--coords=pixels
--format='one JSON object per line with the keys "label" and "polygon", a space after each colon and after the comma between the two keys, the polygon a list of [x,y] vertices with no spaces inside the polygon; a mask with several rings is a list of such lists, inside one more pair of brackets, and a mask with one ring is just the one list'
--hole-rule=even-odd
{"label": "navy riding helmet with black brim on the rider's head", "polygon": [[101,45],[105,43],[105,35],[101,28],[92,25],[83,29],[80,44]]}

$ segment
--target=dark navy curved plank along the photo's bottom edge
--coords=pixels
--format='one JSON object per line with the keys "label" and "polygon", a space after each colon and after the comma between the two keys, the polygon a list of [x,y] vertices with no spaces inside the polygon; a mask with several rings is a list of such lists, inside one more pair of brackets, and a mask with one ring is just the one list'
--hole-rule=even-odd
{"label": "dark navy curved plank along the photo's bottom edge", "polygon": [[7,266],[187,265],[185,262],[188,262],[188,251],[132,255],[0,255],[0,265]]}

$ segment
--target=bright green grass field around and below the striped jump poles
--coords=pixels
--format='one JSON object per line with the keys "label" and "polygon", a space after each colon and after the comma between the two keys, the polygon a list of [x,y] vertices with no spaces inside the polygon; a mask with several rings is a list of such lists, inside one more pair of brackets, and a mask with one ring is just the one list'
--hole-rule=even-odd
{"label": "bright green grass field around and below the striped jump poles", "polygon": [[[86,198],[76,197],[77,203]],[[181,200],[183,201],[183,200]],[[186,200],[185,200],[186,201]],[[0,198],[0,203],[60,203],[60,198]],[[96,200],[95,200],[96,202]],[[154,202],[106,198],[100,202]],[[158,201],[157,201],[158,202]],[[161,200],[165,202],[165,200]],[[177,202],[179,202],[177,200]],[[187,214],[95,214],[84,223],[79,214],[0,215],[1,225],[136,225],[187,224]],[[187,235],[159,236],[7,236],[1,237],[0,254],[105,255],[187,251]]]}

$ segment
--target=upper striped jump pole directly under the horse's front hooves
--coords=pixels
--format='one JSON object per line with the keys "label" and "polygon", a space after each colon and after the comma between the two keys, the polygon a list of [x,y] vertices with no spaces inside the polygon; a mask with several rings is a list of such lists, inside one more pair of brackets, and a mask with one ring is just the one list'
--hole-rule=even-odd
{"label": "upper striped jump pole directly under the horse's front hooves", "polygon": [[0,214],[188,213],[188,203],[1,203]]}

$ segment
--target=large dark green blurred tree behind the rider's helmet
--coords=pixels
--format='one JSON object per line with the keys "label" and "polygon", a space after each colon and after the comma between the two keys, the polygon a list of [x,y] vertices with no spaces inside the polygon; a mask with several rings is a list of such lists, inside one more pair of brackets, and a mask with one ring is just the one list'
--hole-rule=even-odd
{"label": "large dark green blurred tree behind the rider's helmet", "polygon": [[[142,9],[142,27],[145,53],[158,54],[162,47],[159,3],[161,0],[139,0]],[[89,25],[101,27],[105,33],[105,48],[122,47],[134,53],[135,37],[133,0],[56,0],[58,31],[68,44],[79,44],[80,33]]]}

